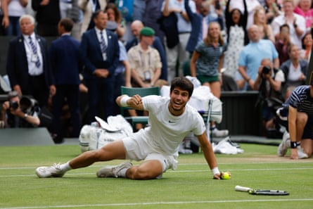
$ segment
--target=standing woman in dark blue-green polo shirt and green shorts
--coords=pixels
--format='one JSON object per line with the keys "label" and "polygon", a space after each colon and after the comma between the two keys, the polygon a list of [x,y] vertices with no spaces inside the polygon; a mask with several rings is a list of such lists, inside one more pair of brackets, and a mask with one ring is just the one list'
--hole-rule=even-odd
{"label": "standing woman in dark blue-green polo shirt and green shorts", "polygon": [[[197,77],[203,86],[210,90],[217,98],[221,97],[222,65],[226,43],[221,34],[219,23],[212,22],[207,30],[207,37],[199,42],[190,61],[191,76]],[[214,137],[226,137],[228,130],[219,130],[215,122],[211,124]]]}

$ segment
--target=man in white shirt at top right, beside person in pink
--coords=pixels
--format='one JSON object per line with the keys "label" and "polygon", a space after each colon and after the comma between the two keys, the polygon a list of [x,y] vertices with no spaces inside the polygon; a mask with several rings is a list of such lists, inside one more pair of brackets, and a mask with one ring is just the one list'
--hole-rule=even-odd
{"label": "man in white shirt at top right, beside person in pink", "polygon": [[293,13],[295,8],[293,0],[283,0],[283,11],[284,13],[274,18],[272,22],[272,29],[274,36],[277,38],[279,36],[279,27],[283,24],[289,25],[290,31],[290,42],[292,44],[297,44],[300,48],[301,39],[305,34],[305,18],[301,15]]}

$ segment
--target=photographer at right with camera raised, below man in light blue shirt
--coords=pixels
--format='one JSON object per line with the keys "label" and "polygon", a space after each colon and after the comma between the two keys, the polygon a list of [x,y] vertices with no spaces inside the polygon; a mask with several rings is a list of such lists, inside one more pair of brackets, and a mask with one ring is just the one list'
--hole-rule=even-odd
{"label": "photographer at right with camera raised, below man in light blue shirt", "polygon": [[259,91],[258,104],[261,106],[264,129],[267,134],[271,130],[276,130],[274,118],[276,117],[276,107],[283,103],[281,94],[283,82],[285,82],[283,71],[274,68],[269,58],[262,59],[253,90]]}

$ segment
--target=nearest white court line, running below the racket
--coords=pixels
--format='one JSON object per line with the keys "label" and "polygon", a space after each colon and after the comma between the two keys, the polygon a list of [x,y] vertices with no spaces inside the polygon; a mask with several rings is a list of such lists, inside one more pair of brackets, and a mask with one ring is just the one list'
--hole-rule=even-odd
{"label": "nearest white court line, running below the racket", "polygon": [[155,203],[108,203],[108,204],[84,204],[84,205],[44,205],[44,206],[25,206],[0,209],[38,209],[38,208],[83,208],[83,207],[108,207],[108,206],[134,206],[134,205],[182,205],[182,204],[203,204],[203,203],[257,203],[257,202],[290,202],[290,201],[313,201],[313,198],[302,199],[262,199],[262,200],[233,200],[233,201],[177,201],[177,202],[155,202]]}

